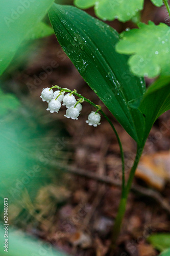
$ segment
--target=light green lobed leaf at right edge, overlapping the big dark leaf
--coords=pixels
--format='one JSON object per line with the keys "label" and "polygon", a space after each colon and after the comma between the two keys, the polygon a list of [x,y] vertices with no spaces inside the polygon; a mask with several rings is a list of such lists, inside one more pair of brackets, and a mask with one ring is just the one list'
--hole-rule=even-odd
{"label": "light green lobed leaf at right edge, overlapping the big dark leaf", "polygon": [[170,29],[166,24],[156,26],[140,23],[139,29],[121,34],[116,50],[123,54],[133,54],[129,58],[131,71],[137,76],[155,77],[170,75]]}

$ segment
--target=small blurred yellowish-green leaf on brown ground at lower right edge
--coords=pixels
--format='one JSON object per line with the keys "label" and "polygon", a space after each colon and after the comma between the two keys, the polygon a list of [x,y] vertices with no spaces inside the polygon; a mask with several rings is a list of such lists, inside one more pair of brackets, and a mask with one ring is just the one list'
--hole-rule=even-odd
{"label": "small blurred yellowish-green leaf on brown ground at lower right edge", "polygon": [[[163,251],[169,248],[170,245],[170,234],[169,233],[158,233],[152,234],[148,238],[148,241],[158,250]],[[162,254],[164,255],[164,254]],[[167,254],[168,256],[170,254]]]}

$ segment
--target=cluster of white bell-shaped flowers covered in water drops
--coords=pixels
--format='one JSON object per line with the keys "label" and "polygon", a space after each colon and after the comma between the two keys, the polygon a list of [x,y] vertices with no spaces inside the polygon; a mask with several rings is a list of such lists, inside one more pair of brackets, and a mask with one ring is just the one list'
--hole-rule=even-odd
{"label": "cluster of white bell-shaped flowers covered in water drops", "polygon": [[[83,102],[84,99],[80,98],[78,101],[76,100],[75,96],[73,95],[76,90],[64,95],[66,90],[68,91],[68,89],[65,88],[65,90],[62,89],[61,91],[57,90],[53,92],[52,88],[45,88],[42,90],[40,97],[42,98],[42,101],[46,101],[48,103],[48,108],[46,110],[50,111],[51,113],[58,113],[61,108],[61,102],[63,101],[62,105],[66,106],[67,108],[64,116],[77,120],[82,110],[82,104],[80,102]],[[86,123],[93,125],[94,127],[98,126],[100,124],[101,116],[97,112],[98,111],[92,111],[89,114]]]}

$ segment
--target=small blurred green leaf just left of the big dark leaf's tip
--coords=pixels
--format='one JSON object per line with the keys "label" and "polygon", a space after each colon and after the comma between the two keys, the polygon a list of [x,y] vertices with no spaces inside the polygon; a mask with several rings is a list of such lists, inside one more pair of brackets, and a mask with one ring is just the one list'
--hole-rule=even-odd
{"label": "small blurred green leaf just left of the big dark leaf's tip", "polygon": [[43,22],[38,23],[26,36],[25,40],[35,40],[54,34],[54,30]]}

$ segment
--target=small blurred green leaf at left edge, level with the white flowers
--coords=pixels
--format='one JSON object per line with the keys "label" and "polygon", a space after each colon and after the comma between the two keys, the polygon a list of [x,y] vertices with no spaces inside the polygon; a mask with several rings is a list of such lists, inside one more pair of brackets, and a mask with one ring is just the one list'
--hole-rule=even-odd
{"label": "small blurred green leaf at left edge, level with the white flowers", "polygon": [[14,95],[5,94],[0,89],[0,116],[4,116],[9,111],[17,109],[19,105],[19,100]]}

